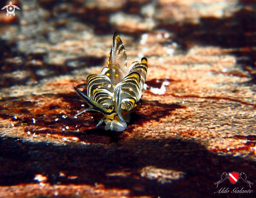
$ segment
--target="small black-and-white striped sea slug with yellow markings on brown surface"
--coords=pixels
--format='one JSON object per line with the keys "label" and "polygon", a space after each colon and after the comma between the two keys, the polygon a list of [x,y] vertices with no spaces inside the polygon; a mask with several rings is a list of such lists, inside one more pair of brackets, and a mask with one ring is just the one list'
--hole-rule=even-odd
{"label": "small black-and-white striped sea slug with yellow markings on brown surface", "polygon": [[141,62],[133,62],[127,70],[125,46],[117,32],[113,36],[112,50],[108,57],[108,67],[104,67],[98,75],[87,77],[87,95],[71,85],[89,106],[74,118],[94,110],[103,114],[96,127],[105,122],[105,130],[124,131],[126,122],[130,121],[130,110],[138,106],[136,103],[141,98],[148,61],[142,58]]}

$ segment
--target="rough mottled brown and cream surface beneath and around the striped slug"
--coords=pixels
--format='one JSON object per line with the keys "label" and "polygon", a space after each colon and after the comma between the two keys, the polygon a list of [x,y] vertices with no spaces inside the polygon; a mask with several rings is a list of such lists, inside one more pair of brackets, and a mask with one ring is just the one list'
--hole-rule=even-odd
{"label": "rough mottled brown and cream surface beneath and around the striped slug", "polygon": [[[13,5],[15,17],[0,13],[1,197],[212,197],[224,187],[250,189],[242,180],[214,183],[223,172],[245,172],[252,182],[256,174],[256,4]],[[147,89],[124,132],[95,128],[98,113],[74,119],[86,104],[70,87],[83,90],[87,76],[107,65],[116,30],[128,66],[143,56],[149,62]]]}

